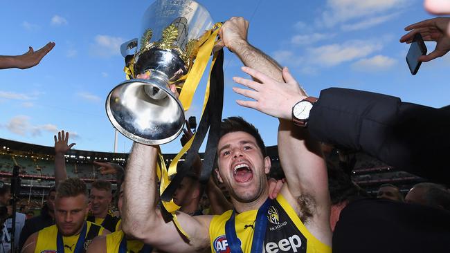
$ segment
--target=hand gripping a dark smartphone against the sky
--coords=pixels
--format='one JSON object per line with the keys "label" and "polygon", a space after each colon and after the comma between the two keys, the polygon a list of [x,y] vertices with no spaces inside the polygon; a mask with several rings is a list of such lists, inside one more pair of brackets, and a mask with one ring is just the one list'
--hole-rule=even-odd
{"label": "hand gripping a dark smartphone against the sky", "polygon": [[400,38],[400,42],[410,44],[417,33],[422,35],[424,41],[435,41],[436,47],[428,55],[418,58],[420,62],[429,62],[432,59],[442,57],[450,50],[450,17],[435,17],[426,19],[415,24],[406,26],[405,30],[410,31]]}

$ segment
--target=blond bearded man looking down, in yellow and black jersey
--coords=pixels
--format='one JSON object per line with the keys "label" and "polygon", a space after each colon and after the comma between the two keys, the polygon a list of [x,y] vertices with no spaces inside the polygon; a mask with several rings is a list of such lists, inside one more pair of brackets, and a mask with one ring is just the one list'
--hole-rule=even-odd
{"label": "blond bearded man looking down, in yellow and black jersey", "polygon": [[55,198],[56,224],[28,237],[22,252],[85,252],[94,237],[109,234],[102,226],[84,221],[88,210],[86,184],[78,178],[60,182]]}

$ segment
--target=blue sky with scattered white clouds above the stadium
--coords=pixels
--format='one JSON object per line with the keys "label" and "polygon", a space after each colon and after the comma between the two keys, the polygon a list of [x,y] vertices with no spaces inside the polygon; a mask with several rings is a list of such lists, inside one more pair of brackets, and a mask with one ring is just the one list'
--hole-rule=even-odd
{"label": "blue sky with scattered white clouds above the stadium", "polygon": [[[73,133],[74,149],[113,151],[114,129],[105,99],[125,79],[119,46],[138,37],[141,17],[153,1],[1,1],[0,55],[19,55],[48,41],[56,46],[41,64],[0,71],[0,137],[53,146],[61,129]],[[433,107],[449,103],[450,57],[406,66],[404,27],[433,16],[422,0],[199,1],[215,21],[242,16],[249,41],[288,66],[309,95],[323,88],[357,88]],[[141,7],[141,8],[140,8]],[[429,52],[434,44],[427,44]],[[233,76],[239,59],[226,50],[224,117],[242,115],[276,144],[278,121],[235,104]],[[204,82],[201,82],[201,87]],[[199,118],[204,88],[187,116]],[[120,134],[119,134],[120,135]],[[118,151],[132,142],[120,135]],[[178,140],[163,145],[177,153]]]}

